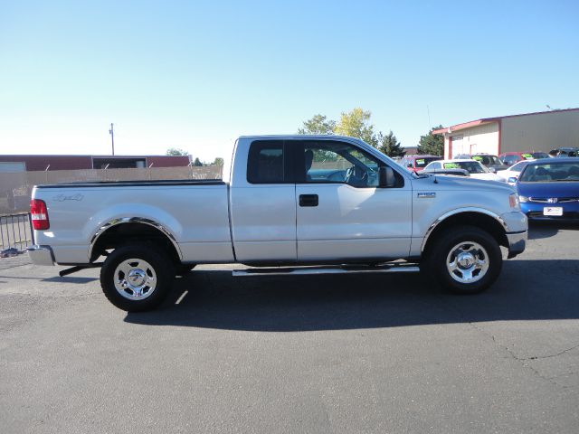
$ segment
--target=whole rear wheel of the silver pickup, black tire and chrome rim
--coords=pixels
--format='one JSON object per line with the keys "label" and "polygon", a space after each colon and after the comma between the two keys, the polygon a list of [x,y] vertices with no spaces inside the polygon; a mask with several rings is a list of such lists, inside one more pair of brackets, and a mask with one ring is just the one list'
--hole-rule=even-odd
{"label": "whole rear wheel of the silver pickup, black tire and chrome rim", "polygon": [[[125,262],[128,259],[135,260]],[[135,287],[128,284],[129,276],[122,269],[132,273],[130,279]],[[127,312],[158,307],[171,291],[174,278],[175,268],[165,250],[147,244],[129,244],[113,250],[100,269],[100,287],[105,296],[113,305]],[[120,282],[128,287],[121,288]],[[133,291],[131,288],[136,289]],[[140,297],[139,290],[142,293]]]}

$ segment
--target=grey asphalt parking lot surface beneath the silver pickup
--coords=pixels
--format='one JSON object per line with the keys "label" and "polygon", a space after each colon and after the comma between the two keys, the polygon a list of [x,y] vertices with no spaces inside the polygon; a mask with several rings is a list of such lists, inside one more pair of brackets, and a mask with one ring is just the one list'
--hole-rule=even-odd
{"label": "grey asphalt parking lot surface beneath the silver pickup", "polygon": [[576,433],[577,246],[577,226],[532,226],[472,297],[204,266],[141,314],[98,269],[0,259],[0,430]]}

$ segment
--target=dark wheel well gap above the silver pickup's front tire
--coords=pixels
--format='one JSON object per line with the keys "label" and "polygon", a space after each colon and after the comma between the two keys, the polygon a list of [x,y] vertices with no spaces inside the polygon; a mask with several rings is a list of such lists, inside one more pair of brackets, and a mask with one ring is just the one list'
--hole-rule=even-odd
{"label": "dark wheel well gap above the silver pickup's front tire", "polygon": [[459,212],[447,217],[434,228],[426,241],[423,253],[426,253],[445,231],[458,226],[475,226],[482,231],[487,231],[498,242],[498,245],[508,247],[507,232],[497,219],[482,212]]}

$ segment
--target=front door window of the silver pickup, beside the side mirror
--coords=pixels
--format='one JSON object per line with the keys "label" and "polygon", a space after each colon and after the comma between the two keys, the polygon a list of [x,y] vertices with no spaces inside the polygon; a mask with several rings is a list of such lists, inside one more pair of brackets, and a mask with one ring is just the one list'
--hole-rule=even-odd
{"label": "front door window of the silver pickup, beside the side mirror", "polygon": [[341,183],[353,187],[378,186],[379,161],[344,142],[304,143],[306,183]]}

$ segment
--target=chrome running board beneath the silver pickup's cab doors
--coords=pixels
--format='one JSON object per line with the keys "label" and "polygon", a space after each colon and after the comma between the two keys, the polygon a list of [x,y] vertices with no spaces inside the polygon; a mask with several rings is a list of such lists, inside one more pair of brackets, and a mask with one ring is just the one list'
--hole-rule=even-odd
{"label": "chrome running board beneath the silver pickup's cab doors", "polygon": [[345,273],[416,273],[416,264],[387,264],[380,266],[325,266],[325,267],[271,267],[266,269],[234,269],[233,277],[282,276],[307,274],[345,274]]}

